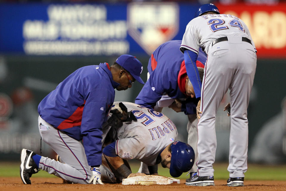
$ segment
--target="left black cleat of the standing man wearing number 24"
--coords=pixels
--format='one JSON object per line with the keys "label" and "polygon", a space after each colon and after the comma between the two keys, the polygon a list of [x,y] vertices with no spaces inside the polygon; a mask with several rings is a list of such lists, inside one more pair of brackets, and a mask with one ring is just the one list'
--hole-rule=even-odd
{"label": "left black cleat of the standing man wearing number 24", "polygon": [[194,173],[191,178],[186,179],[186,185],[215,186],[214,176],[198,176],[198,173]]}

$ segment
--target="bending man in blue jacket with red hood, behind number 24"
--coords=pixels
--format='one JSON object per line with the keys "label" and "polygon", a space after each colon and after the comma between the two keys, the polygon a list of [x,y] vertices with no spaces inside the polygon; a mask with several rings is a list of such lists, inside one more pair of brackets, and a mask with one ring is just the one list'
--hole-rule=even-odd
{"label": "bending man in blue jacket with red hood, behind number 24", "polygon": [[[179,50],[181,42],[180,40],[167,41],[153,52],[147,67],[150,77],[137,96],[135,103],[153,108],[158,112],[161,112],[161,107],[170,107],[176,112],[184,112],[188,115],[188,144],[193,147],[195,161],[197,161],[198,119],[196,107],[198,99],[189,78],[195,78],[201,83],[206,55],[200,50],[195,63],[198,70],[192,76],[187,76],[184,55]],[[196,164],[190,172],[197,172]],[[142,173],[148,172],[142,171]]]}

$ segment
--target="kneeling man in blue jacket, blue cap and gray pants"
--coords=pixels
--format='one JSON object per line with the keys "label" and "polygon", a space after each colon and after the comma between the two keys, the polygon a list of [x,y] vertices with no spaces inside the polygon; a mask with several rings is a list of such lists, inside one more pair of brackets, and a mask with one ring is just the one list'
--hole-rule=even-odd
{"label": "kneeling man in blue jacket, blue cap and gray pants", "polygon": [[39,131],[64,163],[22,149],[23,183],[31,184],[31,175],[42,169],[73,183],[102,184],[102,124],[113,105],[114,89],[127,90],[135,80],[144,84],[142,68],[136,57],[122,55],[111,67],[100,63],[79,68],[49,93],[38,106]]}

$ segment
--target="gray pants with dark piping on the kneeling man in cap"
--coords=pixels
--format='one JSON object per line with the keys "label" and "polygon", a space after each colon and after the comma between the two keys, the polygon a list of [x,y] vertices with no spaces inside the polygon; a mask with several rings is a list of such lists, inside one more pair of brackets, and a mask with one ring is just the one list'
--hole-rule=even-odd
{"label": "gray pants with dark piping on the kneeling man in cap", "polygon": [[42,156],[39,168],[73,183],[89,184],[92,173],[81,142],[61,133],[40,116],[38,123],[42,140],[64,161]]}

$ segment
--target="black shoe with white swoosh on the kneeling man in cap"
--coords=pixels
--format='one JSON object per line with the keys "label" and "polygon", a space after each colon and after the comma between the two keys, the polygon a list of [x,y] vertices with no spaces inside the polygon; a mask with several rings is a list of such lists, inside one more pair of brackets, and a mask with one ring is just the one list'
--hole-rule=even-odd
{"label": "black shoe with white swoosh on the kneeling man in cap", "polygon": [[24,184],[31,184],[30,178],[32,174],[39,172],[39,169],[32,158],[35,154],[36,153],[27,149],[22,149],[21,151],[20,176]]}

